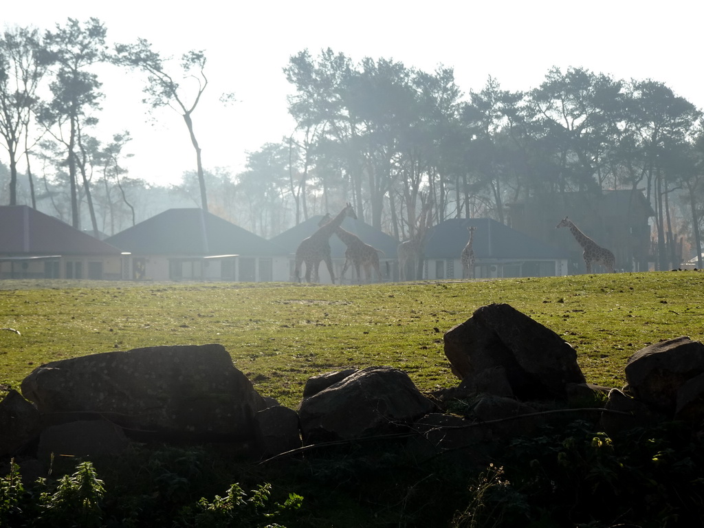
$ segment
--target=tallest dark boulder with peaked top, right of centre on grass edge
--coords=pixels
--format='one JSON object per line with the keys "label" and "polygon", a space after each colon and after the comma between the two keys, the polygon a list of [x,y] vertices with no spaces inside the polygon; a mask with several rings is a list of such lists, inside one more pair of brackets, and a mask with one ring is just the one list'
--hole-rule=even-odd
{"label": "tallest dark boulder with peaked top, right of centre on grass edge", "polygon": [[567,384],[586,382],[574,348],[508,304],[477,309],[444,345],[454,374],[477,393],[565,399]]}

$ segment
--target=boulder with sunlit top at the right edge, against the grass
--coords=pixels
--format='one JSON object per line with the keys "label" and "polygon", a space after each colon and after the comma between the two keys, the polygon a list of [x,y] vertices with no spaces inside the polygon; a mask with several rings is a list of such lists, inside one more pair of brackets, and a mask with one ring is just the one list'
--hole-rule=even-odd
{"label": "boulder with sunlit top at the right edge, against the grass", "polygon": [[629,394],[673,417],[680,387],[704,373],[704,345],[689,337],[655,343],[634,353],[625,370]]}

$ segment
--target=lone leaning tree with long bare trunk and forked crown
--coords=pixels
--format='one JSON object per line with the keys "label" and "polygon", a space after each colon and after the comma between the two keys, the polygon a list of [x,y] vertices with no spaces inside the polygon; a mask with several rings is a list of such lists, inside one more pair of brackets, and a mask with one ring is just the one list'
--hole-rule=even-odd
{"label": "lone leaning tree with long bare trunk and forked crown", "polygon": [[[148,84],[144,88],[147,99],[144,102],[151,104],[152,108],[168,106],[180,113],[188,129],[191,144],[196,151],[196,173],[198,175],[201,191],[201,207],[208,210],[208,196],[206,193],[206,177],[203,173],[201,147],[196,139],[193,125],[193,113],[201,101],[201,96],[208,86],[208,77],[205,74],[206,55],[204,51],[188,51],[181,56],[181,80],[176,80],[168,73],[168,58],[151,49],[151,44],[145,39],[137,39],[137,44],[118,44],[116,61],[130,68],[137,68],[146,72]],[[182,82],[190,81],[188,89],[195,93],[191,101],[187,99],[182,87]]]}

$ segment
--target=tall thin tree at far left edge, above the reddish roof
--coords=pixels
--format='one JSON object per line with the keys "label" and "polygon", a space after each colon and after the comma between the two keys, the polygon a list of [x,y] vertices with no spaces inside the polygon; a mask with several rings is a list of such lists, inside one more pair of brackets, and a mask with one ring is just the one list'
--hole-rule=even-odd
{"label": "tall thin tree at far left edge, above the reddish roof", "polygon": [[[5,30],[0,38],[0,135],[10,160],[11,206],[17,205],[17,163],[20,144],[29,134],[30,119],[36,108],[39,83],[46,73],[46,64],[39,60],[39,32],[26,27]],[[34,184],[30,175],[32,206]]]}

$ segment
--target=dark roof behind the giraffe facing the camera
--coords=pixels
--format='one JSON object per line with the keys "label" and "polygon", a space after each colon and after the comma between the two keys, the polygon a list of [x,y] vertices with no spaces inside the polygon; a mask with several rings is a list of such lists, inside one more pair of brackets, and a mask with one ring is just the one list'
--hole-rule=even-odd
{"label": "dark roof behind the giraffe facing the camera", "polygon": [[476,258],[568,258],[566,251],[548,246],[489,218],[453,218],[432,227],[425,241],[425,258],[460,258],[474,226]]}

